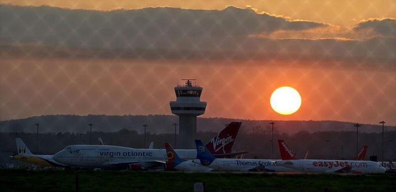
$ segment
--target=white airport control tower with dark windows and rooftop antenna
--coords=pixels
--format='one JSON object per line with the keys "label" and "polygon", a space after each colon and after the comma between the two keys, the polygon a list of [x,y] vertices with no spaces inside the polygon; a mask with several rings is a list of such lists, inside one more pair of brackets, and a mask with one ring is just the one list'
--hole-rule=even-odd
{"label": "white airport control tower with dark windows and rooftop antenna", "polygon": [[182,80],[186,80],[186,84],[175,87],[176,101],[169,103],[172,114],[179,116],[177,148],[196,149],[197,116],[205,113],[206,102],[200,101],[202,87],[192,83],[196,79]]}

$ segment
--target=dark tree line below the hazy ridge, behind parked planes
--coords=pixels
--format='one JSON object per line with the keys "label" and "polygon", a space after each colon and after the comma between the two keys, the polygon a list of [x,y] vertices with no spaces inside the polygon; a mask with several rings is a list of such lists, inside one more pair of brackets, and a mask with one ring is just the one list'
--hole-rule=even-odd
{"label": "dark tree line below the hazy ridge, behind parked planes", "polygon": [[[217,132],[198,132],[197,138],[204,143],[211,139]],[[178,135],[176,135],[177,137]],[[85,144],[98,145],[100,137],[105,145],[115,145],[131,148],[148,147],[154,142],[155,149],[164,149],[164,142],[174,145],[174,133],[146,132],[146,145],[144,133],[137,130],[121,129],[115,132],[89,131],[85,132],[49,132],[39,133],[38,152],[36,150],[37,133],[32,132],[0,132],[0,152],[16,153],[15,138],[21,138],[34,154],[54,154],[68,145]],[[306,152],[313,159],[352,159],[356,155],[355,131],[298,131],[297,133],[281,133],[275,128],[273,142],[273,157],[280,158],[278,139],[285,140],[289,147],[299,158]],[[384,158],[396,160],[396,131],[386,131],[384,135]],[[358,150],[363,145],[368,146],[366,159],[371,155],[378,155],[381,160],[382,133],[358,133]],[[176,143],[177,148],[177,143]],[[245,158],[270,158],[271,156],[271,131],[270,128],[242,127],[234,143],[233,150],[248,151]]]}

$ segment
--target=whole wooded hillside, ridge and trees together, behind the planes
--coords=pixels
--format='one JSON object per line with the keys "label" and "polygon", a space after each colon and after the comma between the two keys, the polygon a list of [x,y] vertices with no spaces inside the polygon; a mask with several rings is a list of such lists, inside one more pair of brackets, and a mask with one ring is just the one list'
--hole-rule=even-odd
{"label": "whole wooded hillside, ridge and trees together, behind the planes", "polygon": [[[197,138],[207,142],[225,124],[242,121],[233,150],[248,151],[247,158],[270,158],[271,120],[243,120],[229,118],[198,118]],[[174,143],[175,115],[43,115],[0,122],[0,163],[9,162],[8,155],[16,153],[15,137],[23,139],[34,153],[54,154],[68,145],[99,144],[144,148],[143,124],[147,124],[147,143],[163,149],[164,142]],[[309,152],[310,158],[350,159],[356,154],[356,128],[351,122],[338,121],[274,121],[274,158],[280,158],[277,139],[293,146],[297,156]],[[36,123],[39,125],[37,152]],[[92,137],[89,123],[93,123]],[[384,158],[396,159],[396,129],[386,127]],[[366,159],[381,155],[382,126],[363,124],[359,128],[358,148],[368,145]],[[8,159],[8,160],[7,160]]]}

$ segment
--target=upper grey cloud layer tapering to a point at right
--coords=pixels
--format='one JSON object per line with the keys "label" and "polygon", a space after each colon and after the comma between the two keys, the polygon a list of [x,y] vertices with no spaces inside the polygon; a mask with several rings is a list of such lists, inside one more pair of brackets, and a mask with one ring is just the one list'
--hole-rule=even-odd
{"label": "upper grey cloud layer tapering to a point at right", "polygon": [[[253,9],[224,10],[155,7],[94,11],[48,6],[2,5],[2,37],[11,41],[40,41],[71,46],[137,47],[186,38],[246,37],[277,30],[305,30],[325,24],[288,21]],[[165,40],[166,41],[166,40]],[[123,43],[121,43],[123,42]]]}

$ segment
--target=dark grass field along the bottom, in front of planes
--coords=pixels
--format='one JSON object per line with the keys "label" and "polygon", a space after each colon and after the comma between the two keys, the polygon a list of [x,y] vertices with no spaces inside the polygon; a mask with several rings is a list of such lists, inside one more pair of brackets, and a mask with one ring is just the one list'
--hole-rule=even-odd
{"label": "dark grass field along the bottom, in front of planes", "polygon": [[0,191],[394,191],[396,174],[183,173],[163,171],[0,170]]}

